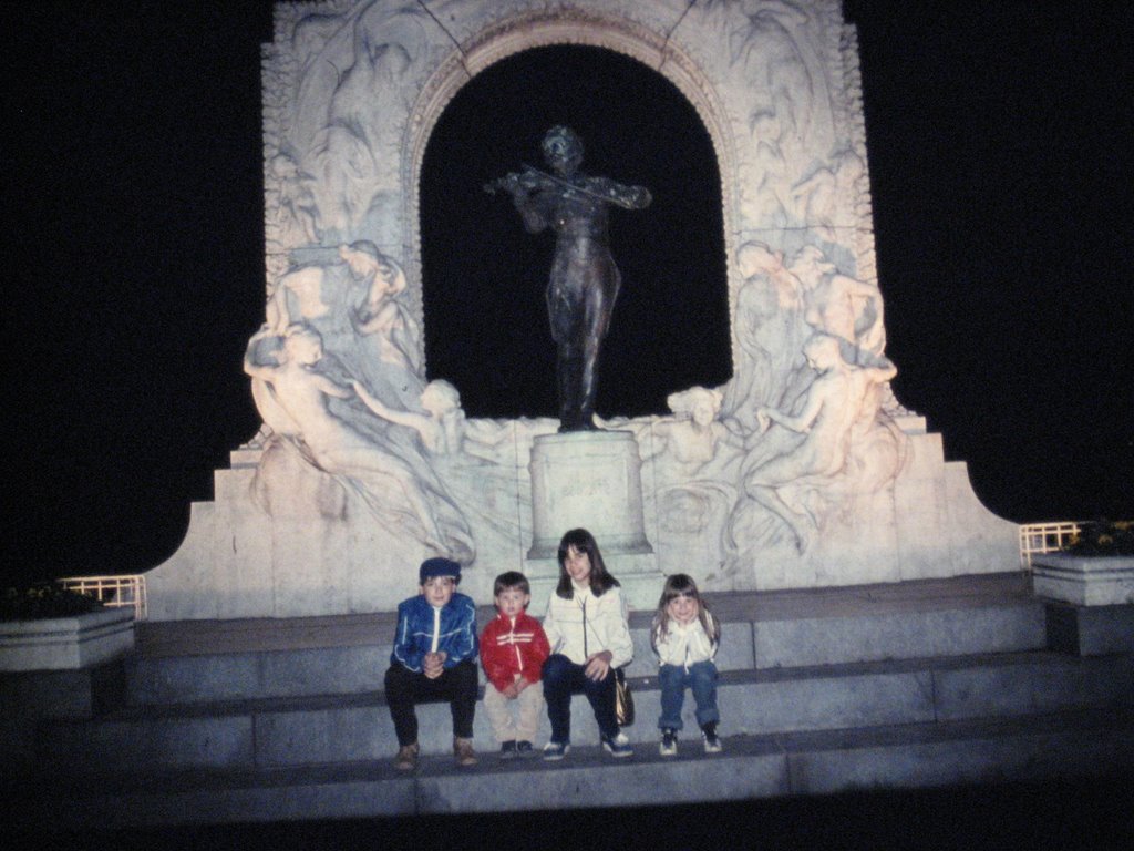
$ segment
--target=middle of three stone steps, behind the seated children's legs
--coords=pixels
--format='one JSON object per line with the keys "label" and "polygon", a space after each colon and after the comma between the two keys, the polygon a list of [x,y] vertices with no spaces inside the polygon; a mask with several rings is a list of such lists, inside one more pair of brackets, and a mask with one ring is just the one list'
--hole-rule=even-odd
{"label": "middle of three stone steps, behind the seated children's legs", "polygon": [[[725,734],[1010,718],[1091,707],[1134,706],[1134,655],[1090,658],[1050,652],[855,663],[722,674],[718,690]],[[633,680],[637,722],[632,742],[652,748],[659,691]],[[696,735],[686,701],[686,739]],[[418,707],[426,753],[451,744],[448,707]],[[573,703],[573,741],[598,731],[585,700]],[[174,769],[266,769],[388,759],[397,749],[381,692],[218,703],[132,707],[86,722],[46,723],[39,741],[49,775],[129,774]],[[547,725],[541,731],[542,744]],[[479,707],[474,741],[492,751]]]}

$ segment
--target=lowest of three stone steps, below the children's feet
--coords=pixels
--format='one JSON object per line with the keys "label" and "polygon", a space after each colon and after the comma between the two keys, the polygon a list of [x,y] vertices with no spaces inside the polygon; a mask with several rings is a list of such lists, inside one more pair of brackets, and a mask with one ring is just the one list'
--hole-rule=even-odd
{"label": "lowest of three stone steps, below the children's feet", "polygon": [[641,747],[613,760],[578,747],[562,762],[482,755],[473,768],[423,757],[412,774],[389,758],[302,768],[193,769],[6,791],[15,831],[75,831],[375,818],[456,812],[721,802],[863,789],[1128,776],[1134,714],[1090,709],[857,730],[730,735],[703,756],[692,742],[662,758]]}

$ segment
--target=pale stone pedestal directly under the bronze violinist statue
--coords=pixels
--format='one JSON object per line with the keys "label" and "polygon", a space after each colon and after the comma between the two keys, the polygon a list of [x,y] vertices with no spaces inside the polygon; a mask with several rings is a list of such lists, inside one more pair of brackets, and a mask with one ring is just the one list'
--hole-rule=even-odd
{"label": "pale stone pedestal directly under the bronze violinist statue", "polygon": [[532,546],[525,571],[531,610],[542,613],[559,581],[559,541],[586,529],[633,608],[653,608],[662,575],[645,536],[642,458],[629,431],[543,435],[532,444]]}

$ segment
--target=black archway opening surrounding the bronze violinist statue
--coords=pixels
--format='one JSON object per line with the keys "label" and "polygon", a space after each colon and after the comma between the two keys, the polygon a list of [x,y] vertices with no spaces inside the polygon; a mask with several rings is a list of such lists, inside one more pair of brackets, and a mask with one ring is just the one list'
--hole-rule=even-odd
{"label": "black archway opening surrounding the bronze violinist statue", "polygon": [[583,170],[653,193],[615,210],[623,288],[603,346],[599,413],[666,412],[666,396],[731,376],[720,172],[693,107],[665,77],[601,48],[536,48],[472,79],[446,108],[422,167],[421,237],[430,379],[471,416],[556,416],[556,349],[544,288],[553,235],[527,234],[483,185],[565,124]]}

